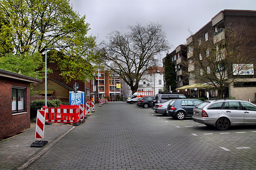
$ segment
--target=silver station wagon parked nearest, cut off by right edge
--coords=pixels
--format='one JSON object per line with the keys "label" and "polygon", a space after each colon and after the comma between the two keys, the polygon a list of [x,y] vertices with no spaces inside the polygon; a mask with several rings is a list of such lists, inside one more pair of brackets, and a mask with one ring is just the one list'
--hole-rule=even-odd
{"label": "silver station wagon parked nearest, cut off by right edge", "polygon": [[256,105],[239,99],[208,100],[196,106],[192,119],[218,130],[256,123]]}

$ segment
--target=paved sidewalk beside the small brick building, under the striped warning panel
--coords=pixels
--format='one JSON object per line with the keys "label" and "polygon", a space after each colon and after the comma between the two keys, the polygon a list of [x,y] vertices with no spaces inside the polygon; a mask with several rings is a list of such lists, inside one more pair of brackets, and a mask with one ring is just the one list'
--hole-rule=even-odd
{"label": "paved sidewalk beside the small brick building, under the striped warning panel", "polygon": [[[96,111],[99,104],[95,104],[94,107]],[[90,117],[85,119],[85,121],[88,121],[88,119],[90,119]],[[48,141],[48,144],[42,148],[35,148],[30,147],[30,145],[36,141],[36,123],[31,123],[29,129],[22,131],[24,133],[0,142],[0,170],[26,168],[28,164],[47,152],[50,147],[55,145],[74,128],[76,128],[76,126],[64,123],[45,125],[43,140]]]}

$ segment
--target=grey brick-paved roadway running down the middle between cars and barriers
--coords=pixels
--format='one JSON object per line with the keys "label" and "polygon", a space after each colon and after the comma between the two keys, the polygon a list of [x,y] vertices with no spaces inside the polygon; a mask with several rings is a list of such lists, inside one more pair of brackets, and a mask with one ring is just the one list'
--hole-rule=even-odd
{"label": "grey brick-paved roadway running down the middle between cars and barriers", "polygon": [[[49,145],[39,156],[30,151],[29,159],[34,160],[28,162],[24,158],[28,163],[16,164],[17,168],[256,169],[255,135],[247,140],[238,138],[242,142],[250,141],[246,143],[250,144],[250,150],[226,151],[220,149],[223,143],[235,145],[239,140],[233,136],[194,136],[190,130],[177,128],[176,123],[158,119],[152,113],[152,109],[124,102],[104,104],[86,123],[72,130],[67,128],[70,131],[62,133],[55,143],[50,142],[54,145]],[[202,129],[196,130],[200,133]]]}

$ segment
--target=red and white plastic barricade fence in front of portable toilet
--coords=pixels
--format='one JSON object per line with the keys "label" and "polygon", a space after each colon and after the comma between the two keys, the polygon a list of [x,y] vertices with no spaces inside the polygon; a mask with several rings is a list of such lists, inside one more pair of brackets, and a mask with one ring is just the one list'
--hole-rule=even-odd
{"label": "red and white plastic barricade fence in front of portable toilet", "polygon": [[74,108],[53,108],[45,107],[45,122],[51,123],[78,123],[79,107]]}

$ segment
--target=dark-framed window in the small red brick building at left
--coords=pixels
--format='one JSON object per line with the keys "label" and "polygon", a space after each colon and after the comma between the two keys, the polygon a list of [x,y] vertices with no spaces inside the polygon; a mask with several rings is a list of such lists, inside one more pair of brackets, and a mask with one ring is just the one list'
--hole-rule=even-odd
{"label": "dark-framed window in the small red brick building at left", "polygon": [[12,112],[25,111],[25,88],[12,87]]}

